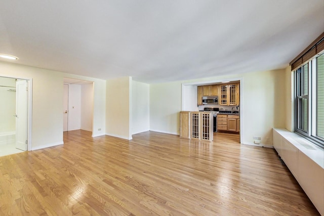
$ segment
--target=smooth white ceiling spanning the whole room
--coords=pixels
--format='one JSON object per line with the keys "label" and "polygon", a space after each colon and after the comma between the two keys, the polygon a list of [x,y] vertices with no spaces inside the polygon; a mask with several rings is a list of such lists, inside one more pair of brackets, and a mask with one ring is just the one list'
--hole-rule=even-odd
{"label": "smooth white ceiling spanning the whole room", "polygon": [[0,53],[15,63],[147,83],[284,68],[323,31],[323,0],[0,4]]}

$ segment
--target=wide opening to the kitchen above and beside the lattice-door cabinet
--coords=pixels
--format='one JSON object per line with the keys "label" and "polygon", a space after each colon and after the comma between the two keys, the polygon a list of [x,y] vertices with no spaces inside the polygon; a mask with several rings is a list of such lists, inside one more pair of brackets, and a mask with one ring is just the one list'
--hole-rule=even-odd
{"label": "wide opening to the kitchen above and beside the lattice-door cabinet", "polygon": [[[241,143],[244,132],[241,100],[242,78],[226,78],[182,84],[183,111],[213,111],[214,138],[219,133],[238,138]],[[204,101],[215,99],[217,101]],[[215,123],[215,124],[214,124]],[[232,136],[233,135],[233,136]]]}

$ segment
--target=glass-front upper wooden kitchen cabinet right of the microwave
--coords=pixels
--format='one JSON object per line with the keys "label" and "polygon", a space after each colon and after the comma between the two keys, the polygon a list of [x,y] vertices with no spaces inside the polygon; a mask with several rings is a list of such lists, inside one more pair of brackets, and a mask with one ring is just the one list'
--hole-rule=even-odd
{"label": "glass-front upper wooden kitchen cabinet right of the microwave", "polygon": [[239,83],[221,84],[219,92],[219,105],[239,104]]}

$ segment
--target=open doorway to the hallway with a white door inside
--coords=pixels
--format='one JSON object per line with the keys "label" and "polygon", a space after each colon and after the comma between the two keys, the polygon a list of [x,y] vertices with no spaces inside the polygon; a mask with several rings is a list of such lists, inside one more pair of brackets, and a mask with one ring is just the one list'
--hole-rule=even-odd
{"label": "open doorway to the hallway with a white door inside", "polygon": [[93,131],[93,82],[64,78],[63,132]]}

